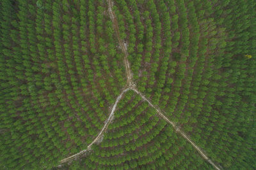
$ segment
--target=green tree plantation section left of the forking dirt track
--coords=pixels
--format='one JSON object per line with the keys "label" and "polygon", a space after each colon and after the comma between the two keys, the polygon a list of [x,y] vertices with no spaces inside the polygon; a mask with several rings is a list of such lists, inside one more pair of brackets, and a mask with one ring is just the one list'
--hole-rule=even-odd
{"label": "green tree plantation section left of the forking dirt track", "polygon": [[49,169],[102,128],[125,83],[121,52],[100,1],[2,6],[0,169]]}

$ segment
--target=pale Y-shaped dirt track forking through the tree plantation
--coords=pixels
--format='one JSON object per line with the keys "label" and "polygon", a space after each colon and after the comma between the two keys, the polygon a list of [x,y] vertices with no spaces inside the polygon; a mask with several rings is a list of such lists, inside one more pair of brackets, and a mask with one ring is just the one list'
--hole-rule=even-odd
{"label": "pale Y-shaped dirt track forking through the tree plantation", "polygon": [[[175,122],[170,121],[167,117],[164,116],[164,112],[161,111],[159,108],[157,108],[157,106],[154,106],[149,99],[147,99],[147,97],[145,97],[140,91],[138,91],[136,89],[136,85],[135,83],[132,81],[132,73],[131,73],[131,69],[130,69],[130,65],[129,65],[129,61],[127,59],[128,57],[128,52],[127,52],[127,48],[124,44],[124,41],[122,39],[120,39],[119,36],[119,29],[118,29],[118,22],[116,20],[115,17],[115,13],[113,12],[113,1],[111,0],[107,0],[108,1],[108,10],[109,10],[109,15],[110,18],[113,22],[113,28],[115,29],[116,32],[116,36],[118,38],[118,44],[120,45],[120,47],[122,48],[122,52],[124,52],[124,64],[125,64],[125,71],[126,71],[126,75],[127,75],[127,88],[122,90],[121,94],[116,98],[115,104],[113,105],[113,108],[111,110],[111,113],[108,117],[108,120],[106,121],[106,123],[104,124],[102,130],[99,132],[98,136],[93,140],[93,142],[87,146],[86,150],[82,150],[79,153],[76,153],[75,155],[72,155],[66,159],[63,159],[60,161],[60,166],[61,164],[64,164],[66,162],[71,162],[74,159],[77,159],[79,157],[82,157],[86,152],[88,152],[88,150],[91,149],[91,146],[94,143],[97,143],[99,141],[99,139],[102,137],[102,134],[108,129],[108,125],[110,124],[111,120],[113,119],[114,113],[115,113],[115,109],[116,109],[116,105],[118,104],[118,102],[120,101],[120,99],[122,98],[123,94],[125,92],[127,92],[128,90],[133,90],[134,92],[136,92],[136,94],[138,94],[144,101],[147,101],[148,104],[154,108],[157,111],[157,114],[162,117],[164,120],[166,120],[166,122],[168,122],[169,124],[172,125],[172,127],[175,129],[176,132],[178,132],[181,136],[183,136],[183,138],[185,138],[189,143],[191,143],[191,145],[198,151],[198,153],[200,153],[200,155],[207,160],[207,162],[209,162],[213,167],[215,167],[216,169],[220,170],[221,168],[216,166],[216,164],[214,164],[214,162],[212,162],[211,159],[209,159],[209,157],[207,157],[207,155],[204,153],[204,151],[197,146],[193,141],[191,141],[191,139],[189,138],[189,136],[183,132],[176,124]],[[58,166],[58,167],[60,167]]]}

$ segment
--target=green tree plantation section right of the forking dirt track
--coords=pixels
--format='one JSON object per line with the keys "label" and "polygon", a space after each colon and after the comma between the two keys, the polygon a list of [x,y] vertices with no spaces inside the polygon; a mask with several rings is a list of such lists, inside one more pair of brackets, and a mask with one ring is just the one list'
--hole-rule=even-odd
{"label": "green tree plantation section right of the forking dirt track", "polygon": [[255,148],[249,134],[255,127],[255,3],[119,2],[118,13],[127,13],[128,6],[136,16],[132,24],[124,20],[136,27],[137,45],[129,60],[138,89],[220,166],[253,169]]}

